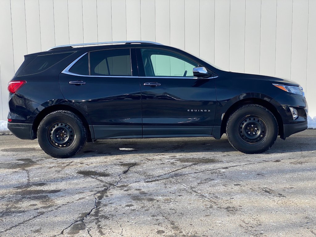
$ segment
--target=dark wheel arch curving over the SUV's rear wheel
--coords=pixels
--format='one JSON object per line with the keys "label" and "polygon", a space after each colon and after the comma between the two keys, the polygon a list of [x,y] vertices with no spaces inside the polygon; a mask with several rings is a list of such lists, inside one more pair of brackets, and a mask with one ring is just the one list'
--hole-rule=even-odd
{"label": "dark wheel arch curving over the SUV's rear wheel", "polygon": [[76,114],[77,116],[79,116],[79,118],[82,120],[83,125],[86,128],[87,131],[87,140],[88,142],[92,141],[92,139],[94,138],[94,131],[93,128],[91,126],[90,129],[90,122],[89,119],[83,115],[82,112],[79,111],[79,109],[70,106],[70,105],[65,105],[65,104],[55,104],[55,105],[51,105],[48,106],[46,108],[44,108],[43,110],[41,110],[35,117],[34,122],[33,122],[33,137],[34,139],[37,138],[37,129],[38,126],[40,125],[40,122],[45,118],[45,116],[51,112],[57,111],[57,110],[67,110],[70,112],[73,112],[74,114]]}

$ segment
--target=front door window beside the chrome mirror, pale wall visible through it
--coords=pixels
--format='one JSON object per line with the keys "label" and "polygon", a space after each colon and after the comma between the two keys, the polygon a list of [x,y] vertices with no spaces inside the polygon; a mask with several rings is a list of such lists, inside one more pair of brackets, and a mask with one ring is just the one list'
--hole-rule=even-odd
{"label": "front door window beside the chrome mirror, pale wall visible through it", "polygon": [[141,49],[145,76],[193,77],[198,64],[173,52]]}

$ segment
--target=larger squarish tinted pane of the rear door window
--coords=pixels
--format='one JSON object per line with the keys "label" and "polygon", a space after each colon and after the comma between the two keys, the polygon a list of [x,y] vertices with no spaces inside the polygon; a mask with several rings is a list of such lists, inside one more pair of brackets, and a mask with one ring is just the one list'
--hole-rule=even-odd
{"label": "larger squarish tinted pane of the rear door window", "polygon": [[92,76],[131,76],[130,49],[90,52]]}

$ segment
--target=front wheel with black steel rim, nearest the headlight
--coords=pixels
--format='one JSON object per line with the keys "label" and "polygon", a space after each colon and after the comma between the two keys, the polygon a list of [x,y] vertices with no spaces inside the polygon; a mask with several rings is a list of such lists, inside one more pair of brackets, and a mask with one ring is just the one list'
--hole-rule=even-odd
{"label": "front wheel with black steel rim, nearest the headlight", "polygon": [[262,153],[275,143],[278,124],[267,108],[248,104],[229,116],[226,135],[236,150],[247,154]]}

